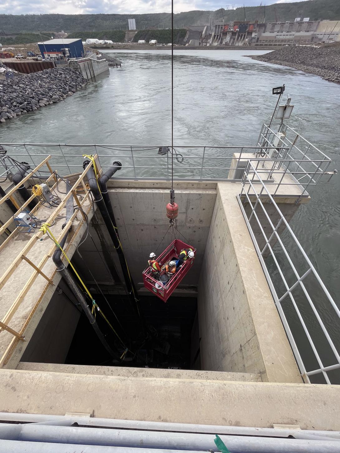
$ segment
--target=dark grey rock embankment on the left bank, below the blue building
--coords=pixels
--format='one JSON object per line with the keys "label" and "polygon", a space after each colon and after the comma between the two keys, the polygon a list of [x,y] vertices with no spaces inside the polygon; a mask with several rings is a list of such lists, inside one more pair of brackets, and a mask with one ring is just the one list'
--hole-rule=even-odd
{"label": "dark grey rock embankment on the left bank, below the blue building", "polygon": [[0,80],[0,122],[62,101],[87,83],[71,68],[45,69]]}

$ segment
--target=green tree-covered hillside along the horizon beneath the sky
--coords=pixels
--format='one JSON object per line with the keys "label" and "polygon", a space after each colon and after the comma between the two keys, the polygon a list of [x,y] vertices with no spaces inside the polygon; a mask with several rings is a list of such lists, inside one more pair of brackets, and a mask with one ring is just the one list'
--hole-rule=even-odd
{"label": "green tree-covered hillside along the horizon beneath the sky", "polygon": [[[264,2],[263,2],[264,3]],[[301,13],[302,11],[302,13]],[[263,22],[276,19],[294,20],[296,17],[311,19],[340,20],[340,0],[307,0],[296,3],[277,3],[275,5],[246,7],[246,19]],[[175,28],[188,25],[209,24],[210,19],[243,20],[243,8],[236,10],[188,11],[174,14]],[[40,30],[67,33],[82,30],[126,30],[127,19],[136,19],[137,29],[170,28],[171,14],[0,14],[0,36],[18,33],[32,33]],[[79,33],[78,33],[79,34]]]}

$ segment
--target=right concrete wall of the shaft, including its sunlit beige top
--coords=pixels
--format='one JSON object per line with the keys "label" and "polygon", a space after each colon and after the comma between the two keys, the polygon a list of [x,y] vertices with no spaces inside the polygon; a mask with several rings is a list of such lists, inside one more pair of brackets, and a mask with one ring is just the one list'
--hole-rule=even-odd
{"label": "right concrete wall of the shaft, including its sunlit beige top", "polygon": [[301,382],[235,185],[218,184],[199,279],[202,369],[255,372],[270,382]]}

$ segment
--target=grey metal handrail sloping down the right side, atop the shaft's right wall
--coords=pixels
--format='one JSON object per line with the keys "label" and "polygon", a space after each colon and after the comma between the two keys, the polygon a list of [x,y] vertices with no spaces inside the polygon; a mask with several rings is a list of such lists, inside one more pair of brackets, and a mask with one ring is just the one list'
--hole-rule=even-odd
{"label": "grey metal handrail sloping down the right side, atop the shaft's right wall", "polygon": [[[258,183],[261,184],[261,190],[258,191],[258,186],[257,188],[254,187],[253,185],[253,179],[256,177]],[[271,217],[267,213],[267,209],[264,206],[266,203],[262,202],[263,195],[270,200],[269,202],[271,203],[271,209],[274,209],[276,211],[276,214],[278,215],[278,222],[276,225],[272,223]],[[335,304],[334,299],[331,297],[329,291],[325,287],[325,284],[321,280],[319,274],[317,273],[315,267],[311,263],[311,260],[308,258],[306,255],[306,252],[303,250],[300,242],[296,238],[294,232],[292,231],[291,227],[289,226],[289,223],[287,222],[286,218],[280,211],[279,207],[277,206],[273,195],[270,193],[268,190],[266,184],[262,181],[260,174],[258,173],[256,166],[253,164],[252,161],[248,161],[246,171],[244,173],[244,178],[243,178],[243,184],[242,184],[242,190],[241,193],[237,196],[238,198],[238,203],[240,205],[241,211],[243,213],[244,220],[247,224],[248,231],[250,233],[250,236],[252,237],[255,250],[257,251],[257,256],[260,260],[260,263],[262,265],[263,272],[267,278],[267,282],[269,285],[269,288],[271,289],[273,299],[275,301],[275,304],[277,306],[278,313],[280,314],[282,324],[286,330],[288,340],[291,344],[292,351],[296,357],[296,362],[300,368],[301,375],[304,378],[305,381],[310,382],[309,376],[317,375],[317,374],[322,374],[325,378],[325,381],[327,384],[330,384],[330,378],[327,374],[327,372],[339,369],[340,368],[340,354],[339,351],[336,349],[335,344],[333,340],[330,337],[330,334],[328,333],[328,330],[325,326],[325,323],[322,321],[319,310],[317,308],[317,304],[313,302],[313,296],[309,294],[308,290],[306,289],[306,285],[304,283],[304,280],[310,276],[310,278],[313,278],[314,283],[317,283],[319,285],[319,289],[323,292],[325,295],[325,298],[328,300],[330,304],[330,309],[333,308],[335,315],[340,318],[340,309],[338,306]],[[267,204],[268,206],[268,204]],[[250,207],[250,214],[248,215],[246,212],[246,209],[248,211],[248,207]],[[263,217],[264,214],[264,217]],[[277,216],[276,216],[277,217]],[[264,231],[264,221],[269,223],[272,232],[271,234],[266,234]],[[255,225],[255,228],[253,228],[253,224]],[[287,234],[289,235],[289,238],[291,242],[296,246],[297,251],[299,252],[299,257],[302,258],[304,262],[305,269],[304,273],[302,275],[299,274],[299,272],[296,269],[296,266],[294,265],[291,254],[287,251],[287,247],[284,245],[282,238],[280,236],[281,231],[280,226],[285,227],[285,235],[287,238]],[[258,229],[261,232],[261,235],[257,235]],[[256,231],[256,232],[255,232]],[[261,242],[264,240],[264,246],[260,246]],[[287,241],[287,239],[286,239]],[[274,246],[274,242],[278,244],[278,246]],[[277,248],[279,251],[277,251]],[[278,275],[281,277],[281,280],[274,278],[275,272],[272,273],[272,275],[269,272],[269,264],[268,261],[264,260],[264,254],[269,251],[272,260],[275,263],[275,266],[277,268]],[[283,252],[283,255],[285,259],[288,261],[289,266],[285,267],[285,269],[280,265],[279,261],[279,255],[280,252]],[[287,272],[287,269],[290,271],[289,275]],[[278,275],[276,275],[278,277]],[[290,283],[288,283],[290,281]],[[292,283],[293,282],[293,283]],[[285,290],[282,292],[280,289],[280,286],[284,285]],[[301,306],[301,301],[298,304],[296,301],[296,298],[293,295],[293,292],[295,289],[300,288],[302,290],[303,294],[303,302],[308,303],[312,312],[314,313],[315,320],[317,321],[319,327],[321,328],[326,341],[328,342],[330,349],[332,350],[335,360],[337,363],[330,365],[330,366],[324,366],[323,361],[320,357],[318,348],[311,338],[311,333],[306,325],[307,320],[301,313],[301,309],[299,308],[298,305]],[[280,293],[281,291],[281,293]],[[301,323],[301,327],[306,334],[306,337],[311,345],[311,350],[314,353],[314,356],[316,358],[316,361],[318,363],[318,368],[314,370],[306,370],[306,366],[304,364],[304,361],[301,357],[301,353],[299,351],[299,348],[296,344],[296,340],[291,332],[290,328],[290,323],[287,320],[286,314],[283,310],[282,305],[285,304],[287,306],[287,302],[285,303],[285,299],[289,297],[291,300],[291,305],[295,309],[295,312],[299,318],[299,321]],[[309,320],[310,321],[310,320]]]}

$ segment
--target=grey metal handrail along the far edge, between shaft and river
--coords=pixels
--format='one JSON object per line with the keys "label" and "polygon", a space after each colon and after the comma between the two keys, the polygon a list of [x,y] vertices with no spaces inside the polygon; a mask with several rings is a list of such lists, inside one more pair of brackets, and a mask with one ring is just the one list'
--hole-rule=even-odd
{"label": "grey metal handrail along the far edge, between shaft and river", "polygon": [[[35,165],[35,158],[44,156],[44,152],[39,152],[39,149],[43,151],[43,148],[47,148],[51,151],[51,148],[58,149],[58,154],[49,152],[49,155],[54,159],[53,167],[58,169],[67,169],[69,173],[72,173],[75,168],[79,168],[80,162],[77,163],[75,159],[82,158],[83,153],[96,153],[99,159],[102,160],[102,167],[108,168],[111,165],[107,165],[105,160],[107,159],[122,159],[123,169],[120,176],[116,176],[116,179],[148,179],[148,180],[169,180],[171,178],[171,148],[166,155],[158,155],[156,151],[164,145],[110,145],[110,144],[60,144],[60,143],[3,143],[5,147],[15,150],[15,156],[25,160],[29,160]],[[19,152],[17,149],[19,148]],[[66,148],[66,149],[65,149]],[[71,154],[71,150],[79,149],[81,154]],[[168,147],[169,148],[169,147]],[[174,151],[183,154],[185,158],[184,164],[179,164],[176,160],[174,162],[174,179],[183,180],[190,179],[193,181],[226,181],[226,182],[241,182],[242,172],[236,173],[238,169],[244,169],[246,161],[249,159],[250,154],[264,154],[264,158],[260,159],[262,162],[262,170],[257,169],[262,175],[262,179],[266,180],[267,183],[277,183],[277,178],[281,178],[280,168],[283,165],[288,165],[288,173],[291,175],[291,184],[296,185],[299,188],[297,194],[300,195],[301,191],[308,195],[306,192],[306,186],[314,184],[313,179],[314,172],[306,171],[301,168],[302,160],[297,161],[296,159],[290,159],[288,157],[289,147],[281,147],[281,151],[286,153],[286,157],[282,158],[281,155],[277,155],[275,159],[269,159],[268,155],[270,151],[277,150],[277,147],[273,146],[214,146],[214,145],[179,145],[174,147]],[[24,151],[24,153],[23,153]],[[12,151],[13,152],[13,151]],[[214,154],[219,155],[211,155]],[[60,153],[60,154],[59,154]],[[142,154],[146,153],[146,154]],[[248,153],[248,155],[245,155]],[[194,155],[191,155],[194,154]],[[59,162],[56,161],[56,159]],[[147,159],[147,160],[146,160]],[[150,159],[157,159],[153,161],[153,175],[148,176],[146,173],[147,169],[150,169]],[[290,162],[291,161],[291,162]],[[293,168],[293,161],[295,165],[298,165],[297,169]],[[147,164],[144,164],[147,162]],[[271,163],[272,168],[264,162]],[[299,163],[300,162],[300,163]],[[321,176],[321,167],[323,162],[320,160],[314,160],[314,164],[318,165],[320,171],[318,171],[318,177]],[[224,165],[223,165],[224,164]],[[73,170],[72,170],[73,169]],[[301,171],[300,171],[301,170]],[[63,171],[63,170],[60,170]],[[231,172],[229,174],[229,172]],[[320,173],[320,174],[319,174]],[[121,176],[123,175],[123,176]],[[189,176],[190,175],[190,176]],[[236,178],[235,176],[238,176]],[[307,176],[307,178],[306,178]],[[304,179],[305,178],[305,179]],[[283,176],[282,176],[283,179]],[[298,181],[298,179],[300,179]],[[256,181],[254,183],[257,183]],[[280,185],[284,183],[281,181]],[[287,184],[287,178],[286,178]],[[301,189],[301,190],[300,190]],[[305,190],[304,190],[305,189]]]}

